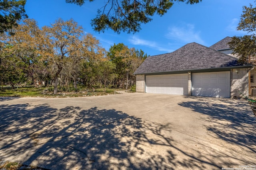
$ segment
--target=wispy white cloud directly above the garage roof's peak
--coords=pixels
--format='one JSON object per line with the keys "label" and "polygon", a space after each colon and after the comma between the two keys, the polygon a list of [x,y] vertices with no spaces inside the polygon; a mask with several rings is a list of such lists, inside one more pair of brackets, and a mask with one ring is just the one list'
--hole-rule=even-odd
{"label": "wispy white cloud directly above the garage roof's peak", "polygon": [[196,42],[204,44],[204,41],[200,37],[200,31],[195,31],[194,29],[193,24],[186,24],[183,27],[172,26],[168,28],[169,32],[166,34],[166,38],[184,43]]}

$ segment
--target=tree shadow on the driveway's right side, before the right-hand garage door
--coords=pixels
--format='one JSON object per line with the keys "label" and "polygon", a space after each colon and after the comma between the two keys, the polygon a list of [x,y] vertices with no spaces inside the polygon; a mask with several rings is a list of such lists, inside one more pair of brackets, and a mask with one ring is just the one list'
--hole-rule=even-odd
{"label": "tree shadow on the driveway's right side, before the right-hand garage door", "polygon": [[217,145],[229,143],[229,149],[256,157],[256,118],[246,100],[188,98],[194,101],[179,105],[202,114],[198,119],[207,122],[204,127]]}

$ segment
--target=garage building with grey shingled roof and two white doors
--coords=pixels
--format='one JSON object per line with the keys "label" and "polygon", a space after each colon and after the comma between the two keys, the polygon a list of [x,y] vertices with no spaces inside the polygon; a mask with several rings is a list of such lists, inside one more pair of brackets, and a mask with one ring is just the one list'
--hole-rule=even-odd
{"label": "garage building with grey shingled roof and two white doors", "polygon": [[136,92],[207,97],[248,96],[253,65],[189,43],[167,54],[148,57],[134,72]]}

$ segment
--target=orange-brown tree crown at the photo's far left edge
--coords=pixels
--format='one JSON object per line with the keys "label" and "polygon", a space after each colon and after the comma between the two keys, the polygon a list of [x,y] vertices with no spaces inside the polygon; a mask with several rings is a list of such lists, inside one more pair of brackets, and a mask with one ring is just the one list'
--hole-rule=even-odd
{"label": "orange-brown tree crown at the photo's far left edge", "polygon": [[[40,62],[38,42],[38,34],[40,29],[37,26],[35,20],[24,20],[24,22],[12,29],[14,34],[2,33],[0,41],[2,43],[0,50],[0,66],[4,66],[6,63],[14,61],[12,70],[6,70],[8,72],[14,72],[20,70],[26,78],[36,80],[38,63]],[[3,67],[2,67],[3,68]],[[16,73],[14,76],[18,77]],[[12,84],[12,82],[10,82]]]}

